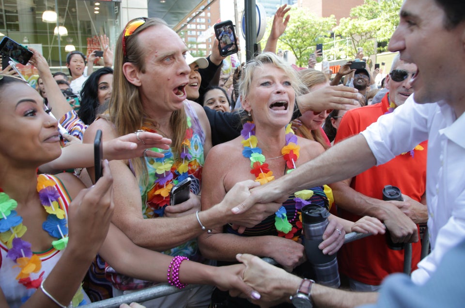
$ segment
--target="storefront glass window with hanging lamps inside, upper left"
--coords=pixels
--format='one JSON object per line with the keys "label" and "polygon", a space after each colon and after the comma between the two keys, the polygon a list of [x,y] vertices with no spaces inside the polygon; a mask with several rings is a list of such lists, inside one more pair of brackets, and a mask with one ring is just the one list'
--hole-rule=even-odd
{"label": "storefront glass window with hanging lamps inside, upper left", "polygon": [[[35,4],[31,7],[32,2]],[[61,70],[68,73],[65,64],[71,45],[89,55],[95,49],[102,49],[97,35],[107,34],[114,45],[121,32],[121,1],[101,1],[98,10],[89,0],[58,1],[58,7],[54,0],[2,0],[1,3],[0,32],[41,51],[53,72],[60,70],[61,64]],[[42,21],[46,10],[57,12],[59,25],[66,28],[67,35],[58,39],[54,34],[56,21]]]}

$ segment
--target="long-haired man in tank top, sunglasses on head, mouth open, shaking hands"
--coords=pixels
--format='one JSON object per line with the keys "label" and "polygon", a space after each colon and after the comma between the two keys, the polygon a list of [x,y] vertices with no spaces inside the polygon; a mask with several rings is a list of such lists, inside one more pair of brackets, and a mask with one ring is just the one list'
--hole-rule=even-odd
{"label": "long-haired man in tank top, sunglasses on head, mouth open, shaking hands", "polygon": [[[252,222],[247,215],[236,216],[228,208],[232,205],[226,204],[200,212],[197,194],[204,158],[211,147],[210,125],[202,106],[186,100],[190,73],[186,49],[163,20],[131,20],[116,43],[108,114],[89,126],[84,142],[92,143],[98,129],[103,131],[104,139],[139,130],[156,131],[170,138],[171,148],[161,151],[163,159],[140,157],[110,163],[115,188],[112,222],[140,246],[203,261],[197,236],[231,221],[253,226],[261,218]],[[192,180],[189,199],[170,205],[172,187],[187,177]],[[261,205],[253,211],[262,211],[264,217],[272,209]],[[152,284],[120,276],[111,269],[108,274],[114,294]],[[211,288],[197,288],[188,295],[180,292],[150,305],[208,305],[210,293]]]}

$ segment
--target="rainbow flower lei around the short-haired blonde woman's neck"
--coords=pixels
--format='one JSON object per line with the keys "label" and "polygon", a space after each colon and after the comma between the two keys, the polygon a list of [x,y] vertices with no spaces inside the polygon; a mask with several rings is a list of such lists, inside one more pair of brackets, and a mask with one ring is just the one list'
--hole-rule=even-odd
{"label": "rainbow flower lei around the short-haired blonde woman's neck", "polygon": [[[300,146],[297,145],[297,137],[291,128],[291,124],[288,124],[286,130],[286,145],[282,147],[281,154],[286,162],[286,173],[290,173],[295,169],[295,162],[299,158]],[[257,146],[258,140],[255,136],[255,124],[253,122],[247,122],[244,124],[241,130],[241,136],[244,138],[241,143],[244,146],[242,155],[250,160],[250,173],[255,175],[255,181],[260,182],[260,185],[266,184],[275,179],[273,172],[268,168],[268,164],[265,162],[266,158],[262,154],[262,149]],[[294,193],[295,212],[294,217],[291,220],[287,219],[286,208],[281,206],[275,215],[275,227],[278,230],[278,235],[286,238],[293,238],[294,233],[302,228],[302,217],[299,210],[303,206],[310,204],[310,201],[306,201],[311,198],[313,191],[301,190]],[[296,227],[291,225],[298,217]]]}

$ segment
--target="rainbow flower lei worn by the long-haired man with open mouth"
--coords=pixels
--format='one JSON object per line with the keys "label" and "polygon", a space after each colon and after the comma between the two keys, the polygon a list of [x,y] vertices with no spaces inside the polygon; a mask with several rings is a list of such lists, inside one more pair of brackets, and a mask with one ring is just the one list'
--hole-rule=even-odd
{"label": "rainbow flower lei worn by the long-haired man with open mouth", "polygon": [[[175,163],[173,152],[171,147],[168,150],[159,148],[151,148],[152,151],[163,153],[162,158],[147,158],[146,162],[152,166],[155,170],[155,181],[152,188],[147,192],[147,203],[158,205],[158,209],[153,209],[154,213],[159,216],[163,216],[165,206],[170,204],[171,189],[178,182],[188,177],[189,162],[192,160],[192,155],[189,153],[191,146],[191,138],[194,135],[192,129],[192,123],[189,116],[187,119],[187,129],[182,142],[182,150],[180,153],[181,161]],[[144,123],[141,128],[145,131],[157,132],[151,129],[149,125]],[[176,175],[176,177],[174,177]]]}

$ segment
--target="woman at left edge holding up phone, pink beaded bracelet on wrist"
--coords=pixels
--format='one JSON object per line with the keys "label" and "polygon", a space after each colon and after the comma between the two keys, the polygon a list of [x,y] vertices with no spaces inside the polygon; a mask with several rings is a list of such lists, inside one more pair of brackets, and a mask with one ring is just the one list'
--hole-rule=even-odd
{"label": "woman at left edge holding up phone, pink beaded bracelet on wrist", "polygon": [[[107,161],[102,178],[88,189],[69,173],[37,175],[39,165],[61,155],[57,124],[26,82],[0,75],[0,307],[89,303],[80,284],[97,251],[121,272],[140,279],[168,280],[180,288],[209,283],[251,295],[240,278],[242,265],[217,268],[182,258],[173,262],[170,256],[136,246],[113,226],[113,179]],[[118,139],[106,142],[104,153],[130,158],[149,144],[160,142],[158,146],[167,148],[162,144],[169,143],[148,132]],[[116,146],[137,139],[147,145],[139,142],[132,150]],[[237,197],[248,195],[248,187],[242,186],[224,202],[236,204]]]}

